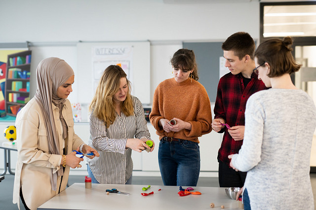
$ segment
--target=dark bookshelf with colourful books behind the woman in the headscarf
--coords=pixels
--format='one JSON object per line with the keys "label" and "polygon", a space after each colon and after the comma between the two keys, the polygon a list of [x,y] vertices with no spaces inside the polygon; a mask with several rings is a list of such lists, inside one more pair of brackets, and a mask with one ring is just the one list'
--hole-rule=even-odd
{"label": "dark bookshelf with colourful books behind the woman in the headscarf", "polygon": [[5,74],[5,112],[16,116],[30,101],[31,50],[8,55]]}

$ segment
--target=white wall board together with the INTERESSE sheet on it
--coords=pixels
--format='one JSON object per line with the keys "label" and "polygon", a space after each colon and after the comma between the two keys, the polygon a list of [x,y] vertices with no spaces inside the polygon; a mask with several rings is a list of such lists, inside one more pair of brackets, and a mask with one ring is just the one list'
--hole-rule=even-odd
{"label": "white wall board together with the INTERESSE sheet on it", "polygon": [[[99,62],[96,60],[95,51],[99,50],[100,54],[118,54],[122,50],[128,50],[127,59],[116,60],[113,62]],[[79,42],[77,44],[78,56],[78,103],[90,104],[95,95],[95,78],[101,75],[108,65],[122,65],[122,69],[129,69],[129,80],[132,82],[132,95],[139,98],[143,104],[150,104],[150,42]],[[97,65],[96,65],[97,63]],[[101,66],[104,65],[104,66]],[[95,68],[100,69],[96,73]]]}

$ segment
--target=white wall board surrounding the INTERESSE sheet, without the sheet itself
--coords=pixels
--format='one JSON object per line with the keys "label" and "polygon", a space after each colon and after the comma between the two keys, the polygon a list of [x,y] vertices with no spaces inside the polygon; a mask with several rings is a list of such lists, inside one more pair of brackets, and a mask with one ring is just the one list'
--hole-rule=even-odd
{"label": "white wall board surrounding the INTERESSE sheet, without the sheet itself", "polygon": [[78,56],[78,102],[90,104],[94,96],[92,49],[94,47],[131,46],[132,52],[132,95],[139,98],[142,104],[150,104],[150,42],[79,42]]}

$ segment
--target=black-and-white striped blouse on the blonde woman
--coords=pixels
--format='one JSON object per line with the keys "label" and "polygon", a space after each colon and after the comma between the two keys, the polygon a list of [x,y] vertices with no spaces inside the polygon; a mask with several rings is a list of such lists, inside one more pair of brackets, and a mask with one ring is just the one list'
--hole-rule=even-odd
{"label": "black-and-white striped blouse on the blonde woman", "polygon": [[127,139],[150,139],[144,109],[138,98],[131,96],[134,115],[123,112],[109,128],[104,121],[90,114],[90,139],[88,145],[98,150],[100,157],[87,158],[87,163],[101,184],[125,184],[133,171],[132,150],[125,148]]}

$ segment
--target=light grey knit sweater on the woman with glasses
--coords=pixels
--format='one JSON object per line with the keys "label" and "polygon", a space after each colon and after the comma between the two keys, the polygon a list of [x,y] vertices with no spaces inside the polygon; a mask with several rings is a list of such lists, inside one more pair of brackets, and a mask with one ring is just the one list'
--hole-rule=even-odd
{"label": "light grey knit sweater on the woman with glasses", "polygon": [[251,209],[314,210],[309,172],[315,127],[314,102],[302,90],[269,89],[248,99],[244,140],[232,163],[248,172]]}

